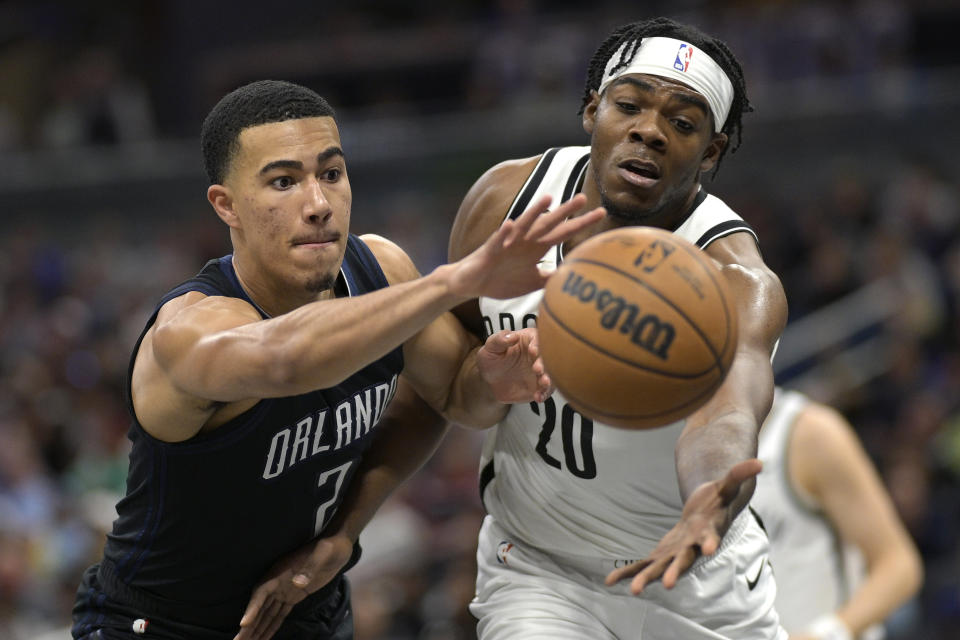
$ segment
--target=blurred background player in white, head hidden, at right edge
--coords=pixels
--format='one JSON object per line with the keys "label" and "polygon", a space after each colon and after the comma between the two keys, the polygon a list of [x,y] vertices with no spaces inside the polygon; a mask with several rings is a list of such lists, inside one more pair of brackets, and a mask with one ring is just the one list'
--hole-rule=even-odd
{"label": "blurred background player in white, head hidden, at right edge", "polygon": [[[920,588],[922,564],[869,457],[837,411],[777,389],[751,505],[770,534],[791,640],[876,640]],[[865,566],[864,566],[865,565]]]}

